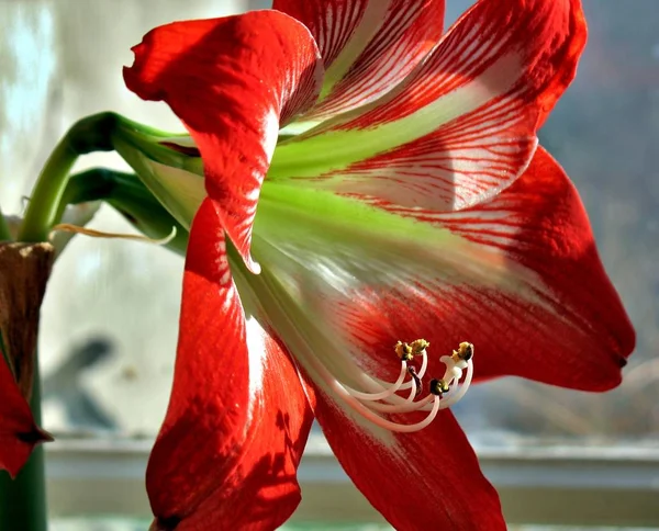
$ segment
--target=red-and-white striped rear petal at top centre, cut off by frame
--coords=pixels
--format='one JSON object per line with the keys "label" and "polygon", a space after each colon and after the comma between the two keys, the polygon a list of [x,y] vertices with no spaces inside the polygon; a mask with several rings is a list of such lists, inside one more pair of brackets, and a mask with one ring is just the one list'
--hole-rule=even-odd
{"label": "red-and-white striped rear petal at top centre, cut off by frame", "polygon": [[444,0],[275,0],[310,30],[327,75],[304,120],[369,103],[402,81],[442,36]]}

